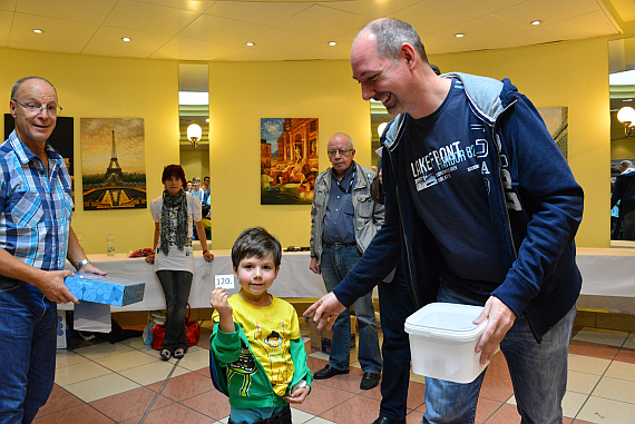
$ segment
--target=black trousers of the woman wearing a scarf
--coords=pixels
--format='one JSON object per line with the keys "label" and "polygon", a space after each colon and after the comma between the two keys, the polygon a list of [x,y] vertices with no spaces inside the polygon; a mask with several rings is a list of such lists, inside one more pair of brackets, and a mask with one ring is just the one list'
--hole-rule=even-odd
{"label": "black trousers of the woman wearing a scarf", "polygon": [[157,270],[157,277],[163,287],[166,305],[165,338],[162,349],[172,353],[182,348],[187,352],[187,335],[185,334],[185,310],[192,287],[192,273],[188,270]]}

